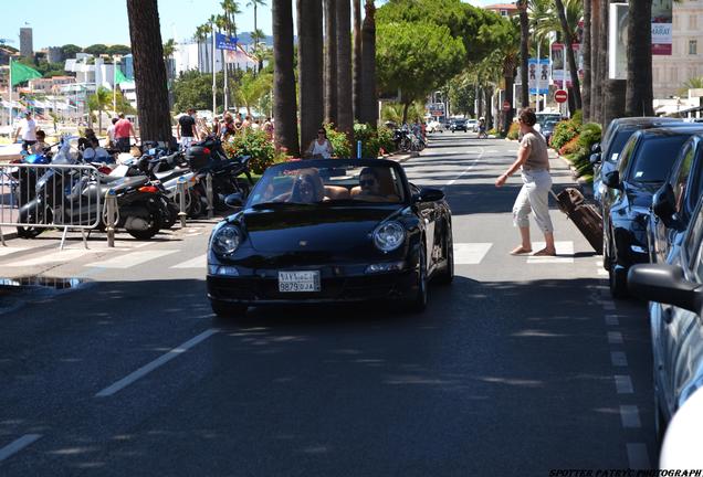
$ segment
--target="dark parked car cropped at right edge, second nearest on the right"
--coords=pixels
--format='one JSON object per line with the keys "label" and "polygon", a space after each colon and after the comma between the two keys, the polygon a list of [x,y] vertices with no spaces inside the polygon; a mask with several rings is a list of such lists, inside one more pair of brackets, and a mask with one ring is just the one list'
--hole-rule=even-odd
{"label": "dark parked car cropped at right edge, second nearest on the right", "polygon": [[647,227],[650,262],[665,263],[672,248],[680,246],[702,195],[703,134],[697,134],[683,145],[667,182],[652,200]]}

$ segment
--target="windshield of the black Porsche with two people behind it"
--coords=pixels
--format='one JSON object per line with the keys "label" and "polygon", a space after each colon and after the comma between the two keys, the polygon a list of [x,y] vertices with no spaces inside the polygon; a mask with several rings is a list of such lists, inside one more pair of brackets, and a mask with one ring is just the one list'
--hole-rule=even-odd
{"label": "windshield of the black Porsche with two people behind it", "polygon": [[[324,166],[319,166],[324,163]],[[390,165],[360,166],[354,161],[303,161],[266,170],[248,206],[262,204],[401,203],[405,190]]]}

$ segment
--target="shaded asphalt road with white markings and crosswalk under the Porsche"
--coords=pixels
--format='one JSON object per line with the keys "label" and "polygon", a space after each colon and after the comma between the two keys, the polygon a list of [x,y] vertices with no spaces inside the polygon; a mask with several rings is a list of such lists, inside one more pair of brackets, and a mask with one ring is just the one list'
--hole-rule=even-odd
{"label": "shaded asphalt road with white markings and crosswalk under the Porsche", "polygon": [[[657,464],[647,310],[613,303],[553,204],[557,257],[511,256],[516,144],[434,135],[405,162],[441,187],[457,277],[420,316],[265,308],[216,319],[211,222],[90,251],[9,241],[0,275],[2,476],[547,476]],[[553,160],[555,189],[571,184]],[[541,237],[533,237],[535,241]],[[537,250],[537,248],[535,248]]]}

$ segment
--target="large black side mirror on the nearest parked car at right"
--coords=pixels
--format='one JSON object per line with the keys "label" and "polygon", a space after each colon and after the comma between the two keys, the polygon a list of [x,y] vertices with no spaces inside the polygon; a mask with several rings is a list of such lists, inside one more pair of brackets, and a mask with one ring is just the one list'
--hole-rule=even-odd
{"label": "large black side mirror on the nearest parked car at right", "polygon": [[679,265],[634,265],[628,273],[627,283],[630,293],[638,298],[701,314],[703,288],[686,280]]}

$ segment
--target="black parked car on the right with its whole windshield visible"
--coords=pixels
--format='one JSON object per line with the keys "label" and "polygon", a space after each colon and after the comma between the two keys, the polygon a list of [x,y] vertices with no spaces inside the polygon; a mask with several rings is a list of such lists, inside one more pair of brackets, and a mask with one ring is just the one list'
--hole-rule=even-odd
{"label": "black parked car on the right with its whole windshield visible", "polygon": [[613,298],[627,296],[631,265],[649,262],[647,224],[652,195],[663,184],[683,144],[701,126],[639,130],[630,137],[618,169],[606,173],[602,195],[604,267]]}

